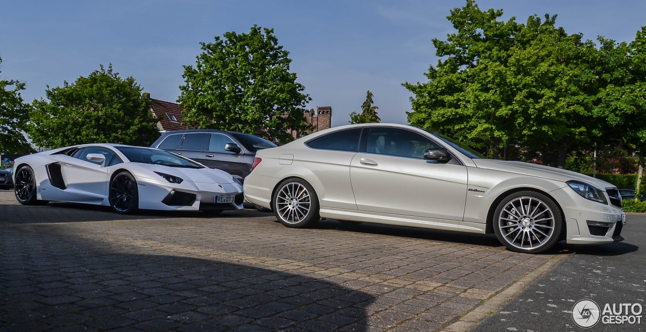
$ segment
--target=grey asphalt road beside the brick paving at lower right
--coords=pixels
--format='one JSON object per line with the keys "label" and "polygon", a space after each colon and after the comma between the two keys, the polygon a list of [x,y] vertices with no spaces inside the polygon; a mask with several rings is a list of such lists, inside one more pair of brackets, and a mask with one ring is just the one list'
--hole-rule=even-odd
{"label": "grey asphalt road beside the brick paving at lower right", "polygon": [[[538,278],[512,302],[472,331],[584,331],[574,324],[572,308],[590,299],[605,304],[641,304],[646,310],[646,214],[631,214],[621,235],[609,245],[562,245],[572,256]],[[641,324],[603,324],[589,331],[646,331]]]}

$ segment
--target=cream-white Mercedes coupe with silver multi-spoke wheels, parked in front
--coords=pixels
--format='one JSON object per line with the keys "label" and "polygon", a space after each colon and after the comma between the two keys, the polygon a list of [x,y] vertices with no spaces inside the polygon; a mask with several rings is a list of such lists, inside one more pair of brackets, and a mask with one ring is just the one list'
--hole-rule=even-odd
{"label": "cream-white Mercedes coupe with silver multi-spoke wheels, parked in front", "polygon": [[484,159],[435,132],[388,123],[322,130],[260,150],[245,198],[287,227],[320,218],[495,233],[512,251],[623,240],[614,185],[520,161]]}

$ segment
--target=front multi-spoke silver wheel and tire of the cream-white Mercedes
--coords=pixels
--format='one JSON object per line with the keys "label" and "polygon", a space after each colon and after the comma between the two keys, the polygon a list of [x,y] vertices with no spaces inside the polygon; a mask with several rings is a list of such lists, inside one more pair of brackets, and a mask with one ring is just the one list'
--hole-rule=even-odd
{"label": "front multi-spoke silver wheel and tire of the cream-white Mercedes", "polygon": [[563,215],[559,206],[544,194],[514,192],[495,209],[495,236],[510,251],[537,254],[554,247],[561,237]]}

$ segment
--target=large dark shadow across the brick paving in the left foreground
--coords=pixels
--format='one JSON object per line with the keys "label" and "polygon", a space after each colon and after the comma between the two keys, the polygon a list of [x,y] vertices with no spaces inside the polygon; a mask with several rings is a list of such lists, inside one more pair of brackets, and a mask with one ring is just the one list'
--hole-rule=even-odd
{"label": "large dark shadow across the brick paving in the left foreground", "polygon": [[2,331],[365,331],[375,300],[309,276],[50,227],[0,237]]}

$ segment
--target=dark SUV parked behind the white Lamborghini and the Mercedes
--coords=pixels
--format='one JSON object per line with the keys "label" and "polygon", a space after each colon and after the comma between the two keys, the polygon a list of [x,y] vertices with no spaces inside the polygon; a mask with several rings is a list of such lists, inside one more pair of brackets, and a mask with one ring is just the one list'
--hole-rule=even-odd
{"label": "dark SUV parked behind the white Lamborghini and the Mercedes", "polygon": [[181,154],[206,167],[229,172],[242,182],[251,172],[256,151],[276,145],[242,132],[189,129],[164,132],[151,147]]}

